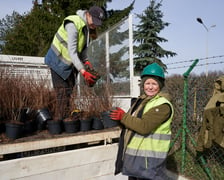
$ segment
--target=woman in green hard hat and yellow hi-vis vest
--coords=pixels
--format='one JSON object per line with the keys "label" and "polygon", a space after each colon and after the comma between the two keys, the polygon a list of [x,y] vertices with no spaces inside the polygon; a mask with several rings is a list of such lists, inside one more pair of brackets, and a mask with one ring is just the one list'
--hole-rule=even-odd
{"label": "woman in green hard hat and yellow hi-vis vest", "polygon": [[111,118],[119,120],[122,132],[115,174],[129,180],[167,180],[166,159],[171,139],[173,106],[162,95],[165,76],[161,66],[152,63],[141,74],[142,95],[127,113],[117,107]]}

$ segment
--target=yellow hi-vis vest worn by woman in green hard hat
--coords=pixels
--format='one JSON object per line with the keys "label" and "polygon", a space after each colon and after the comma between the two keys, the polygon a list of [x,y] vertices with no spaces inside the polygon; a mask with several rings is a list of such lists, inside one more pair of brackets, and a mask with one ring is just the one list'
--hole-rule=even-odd
{"label": "yellow hi-vis vest worn by woman in green hard hat", "polygon": [[[145,108],[144,112],[158,105],[168,103],[172,107],[171,103],[164,97],[156,96],[150,100]],[[144,156],[154,158],[165,158],[169,150],[171,139],[170,124],[173,117],[173,110],[171,117],[158,127],[154,132],[147,136],[141,136],[137,133],[133,136],[130,143],[127,146],[126,154],[132,156]]]}

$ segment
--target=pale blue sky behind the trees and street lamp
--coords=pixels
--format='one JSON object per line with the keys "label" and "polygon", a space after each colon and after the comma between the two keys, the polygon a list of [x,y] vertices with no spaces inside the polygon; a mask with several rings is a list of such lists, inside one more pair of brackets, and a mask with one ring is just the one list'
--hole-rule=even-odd
{"label": "pale blue sky behind the trees and street lamp", "polygon": [[[108,9],[123,9],[132,0],[113,0]],[[137,24],[135,14],[141,14],[148,7],[150,0],[135,0],[133,23]],[[13,10],[24,13],[32,7],[32,0],[7,0],[1,2],[0,18],[11,14]],[[176,52],[172,58],[164,58],[168,66],[168,75],[183,74],[194,59],[200,60],[192,73],[206,73],[208,71],[224,71],[224,1],[223,0],[163,0],[161,11],[163,20],[169,22],[159,36],[168,42],[160,44],[164,49]],[[200,17],[209,31],[196,21]],[[210,28],[210,26],[216,25]],[[206,57],[219,58],[209,58]],[[180,62],[185,63],[180,63]],[[207,65],[206,65],[207,64]],[[179,68],[183,67],[183,68]]]}

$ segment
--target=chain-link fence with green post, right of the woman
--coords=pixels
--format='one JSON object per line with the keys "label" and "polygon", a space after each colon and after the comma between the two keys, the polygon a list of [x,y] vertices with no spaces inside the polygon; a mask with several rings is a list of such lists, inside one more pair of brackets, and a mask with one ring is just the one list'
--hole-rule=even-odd
{"label": "chain-link fence with green post, right of the woman", "polygon": [[176,75],[166,81],[166,90],[173,97],[175,110],[168,169],[189,179],[224,179],[224,149],[213,142],[202,152],[196,150],[204,108],[219,76],[220,73],[187,78]]}

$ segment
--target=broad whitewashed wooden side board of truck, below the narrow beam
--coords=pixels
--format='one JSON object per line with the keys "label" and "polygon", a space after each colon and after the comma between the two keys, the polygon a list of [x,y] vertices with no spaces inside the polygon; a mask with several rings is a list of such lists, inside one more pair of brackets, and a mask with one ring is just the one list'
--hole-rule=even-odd
{"label": "broad whitewashed wooden side board of truck, below the narrow beam", "polygon": [[0,179],[91,179],[113,175],[118,145],[109,144],[0,162]]}

